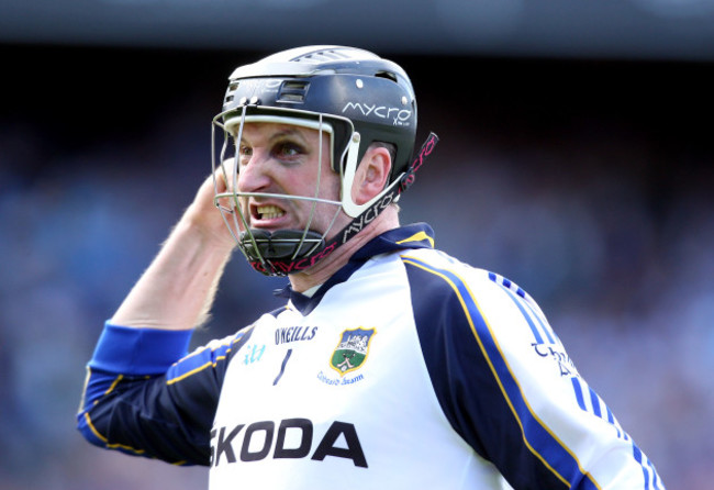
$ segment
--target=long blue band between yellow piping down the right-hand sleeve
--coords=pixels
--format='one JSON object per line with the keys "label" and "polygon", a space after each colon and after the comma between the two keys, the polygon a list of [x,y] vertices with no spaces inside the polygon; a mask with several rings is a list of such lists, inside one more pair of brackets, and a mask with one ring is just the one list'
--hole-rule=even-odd
{"label": "long blue band between yellow piping down the right-hand sleeve", "polygon": [[[571,486],[570,482],[579,482],[578,488],[598,488],[592,477],[580,467],[572,452],[533,412],[468,285],[451,270],[434,267],[410,256],[402,256],[402,260],[404,264],[419,267],[440,277],[457,294],[470,324],[471,333],[499,385],[507,407],[515,416],[527,449],[567,487]],[[521,312],[524,313],[523,309],[521,309]],[[524,316],[528,318],[527,314],[524,314]]]}

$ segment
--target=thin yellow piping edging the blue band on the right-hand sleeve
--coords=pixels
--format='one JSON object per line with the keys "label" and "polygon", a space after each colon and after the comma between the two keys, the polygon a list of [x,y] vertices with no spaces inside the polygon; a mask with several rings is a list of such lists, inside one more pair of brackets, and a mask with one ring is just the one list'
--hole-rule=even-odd
{"label": "thin yellow piping edging the blue band on the right-hand sleeve", "polygon": [[[545,459],[545,458],[544,458],[544,457],[543,457],[543,456],[542,456],[542,455],[540,455],[540,454],[539,454],[539,453],[538,453],[538,452],[537,452],[537,450],[536,450],[536,449],[531,445],[531,443],[529,443],[528,439],[526,438],[526,435],[525,435],[525,428],[523,427],[523,422],[521,421],[521,417],[518,416],[517,411],[516,411],[515,408],[513,407],[513,403],[512,403],[512,401],[511,401],[511,398],[509,397],[509,393],[507,393],[505,387],[503,386],[503,383],[502,383],[502,381],[501,381],[501,378],[499,377],[499,374],[498,374],[495,367],[493,366],[493,364],[492,364],[492,361],[491,361],[491,358],[489,357],[489,354],[488,354],[486,347],[483,346],[483,344],[482,344],[482,342],[481,342],[481,338],[480,338],[480,336],[479,336],[479,334],[478,334],[478,332],[477,332],[477,330],[476,330],[476,325],[473,324],[473,320],[472,320],[472,318],[471,318],[470,311],[469,311],[469,309],[468,309],[468,307],[467,307],[467,304],[466,304],[466,301],[464,300],[464,297],[461,296],[461,292],[459,291],[458,286],[457,286],[456,283],[454,283],[454,281],[453,281],[448,276],[446,276],[446,275],[444,275],[444,274],[442,274],[442,272],[439,272],[439,271],[437,271],[437,270],[434,270],[434,269],[427,267],[426,265],[422,264],[421,260],[420,260],[419,258],[410,257],[410,256],[403,255],[403,256],[402,256],[402,260],[403,260],[405,264],[410,264],[410,265],[412,265],[412,266],[414,266],[414,267],[417,267],[417,268],[420,268],[420,269],[422,269],[422,270],[425,270],[425,271],[427,271],[427,272],[431,272],[431,274],[433,274],[433,275],[435,275],[435,276],[440,277],[442,279],[444,279],[445,282],[447,282],[447,283],[451,287],[451,289],[454,290],[454,292],[456,293],[456,296],[457,296],[458,299],[459,299],[459,303],[461,304],[461,308],[464,309],[464,312],[465,312],[465,314],[466,314],[466,318],[467,318],[467,320],[468,320],[468,322],[469,322],[469,326],[470,326],[470,328],[471,328],[471,333],[473,334],[473,337],[476,338],[477,343],[479,344],[479,348],[481,349],[481,353],[483,354],[483,358],[487,360],[487,363],[488,363],[488,365],[489,365],[489,367],[490,367],[490,369],[491,369],[491,372],[493,374],[493,377],[494,377],[494,379],[497,380],[497,382],[498,382],[498,385],[499,385],[499,388],[501,389],[501,392],[503,393],[503,398],[505,399],[506,403],[509,404],[509,408],[511,409],[511,412],[513,413],[513,416],[515,417],[516,422],[518,423],[518,426],[521,427],[521,434],[523,435],[523,442],[525,443],[525,446],[528,448],[528,450],[531,450],[531,453],[533,453],[533,455],[534,455],[536,458],[538,458],[538,459],[540,460],[540,463],[544,464],[544,466],[545,466],[546,468],[548,468],[548,469],[549,469],[549,470],[550,470],[550,471],[556,476],[556,478],[558,478],[560,481],[562,481],[566,486],[569,487],[569,486],[570,486],[570,482],[569,482],[565,477],[562,477],[562,476],[561,476],[561,475],[560,475],[560,474],[559,474],[559,472],[558,472],[558,471],[557,471],[553,466],[550,466],[550,464],[548,464],[548,461],[546,461],[546,459]],[[551,437],[553,437],[553,438],[554,438],[554,439],[555,439],[555,441],[556,441],[556,442],[557,442],[557,443],[558,443],[558,444],[559,444],[559,445],[560,445],[560,446],[561,446],[561,447],[562,447],[562,448],[564,448],[564,449],[565,449],[565,450],[566,450],[570,456],[572,456],[573,460],[574,460],[576,464],[578,465],[578,469],[580,470],[580,472],[581,472],[582,475],[584,475],[588,479],[590,479],[590,481],[592,481],[592,483],[593,483],[598,489],[600,489],[601,487],[600,487],[600,486],[598,485],[598,482],[592,478],[592,476],[591,476],[588,471],[585,471],[585,470],[582,468],[582,466],[580,465],[580,461],[578,460],[577,456],[572,453],[572,450],[571,450],[569,447],[567,447],[567,446],[562,443],[562,441],[560,441],[560,439],[556,436],[556,434],[550,430],[550,427],[548,427],[548,426],[547,426],[547,425],[546,425],[546,424],[545,424],[545,423],[544,423],[544,422],[543,422],[543,421],[542,421],[542,420],[540,420],[540,419],[535,414],[535,412],[534,412],[533,409],[531,408],[531,404],[528,403],[528,400],[527,400],[526,397],[525,397],[525,393],[523,392],[523,389],[521,388],[521,385],[518,383],[517,378],[513,375],[513,370],[511,369],[511,366],[509,365],[507,359],[506,359],[505,356],[503,355],[503,352],[501,350],[501,347],[500,347],[500,345],[499,345],[499,342],[498,342],[495,335],[493,335],[493,331],[491,330],[491,325],[489,324],[489,321],[487,320],[486,315],[483,314],[483,312],[482,312],[482,310],[481,310],[481,307],[479,305],[478,301],[477,301],[476,298],[473,297],[473,293],[471,292],[470,288],[468,287],[468,283],[467,283],[467,282],[466,282],[466,281],[465,281],[465,280],[464,280],[464,279],[458,275],[458,274],[455,274],[455,272],[451,271],[451,270],[448,270],[448,272],[451,274],[451,275],[454,275],[456,278],[458,278],[459,281],[461,281],[461,283],[462,283],[464,287],[466,288],[466,290],[468,291],[468,294],[469,294],[469,297],[470,297],[470,300],[473,302],[473,305],[475,305],[475,307],[477,308],[477,310],[479,311],[479,314],[481,315],[481,319],[483,319],[483,323],[486,324],[486,327],[488,328],[489,333],[491,334],[491,337],[493,338],[493,343],[495,344],[497,349],[498,349],[499,353],[501,354],[501,358],[503,359],[503,363],[505,364],[505,366],[506,366],[509,372],[510,372],[511,376],[513,377],[513,381],[514,381],[515,385],[517,386],[517,388],[518,388],[518,392],[521,393],[521,398],[523,399],[523,402],[524,402],[525,405],[527,407],[528,412],[531,412],[531,415],[534,417],[534,420],[535,420],[536,422],[538,422],[538,424],[540,424],[540,426],[542,426],[543,428],[545,428],[545,431],[546,431],[548,434],[550,434],[550,436],[551,436]]]}

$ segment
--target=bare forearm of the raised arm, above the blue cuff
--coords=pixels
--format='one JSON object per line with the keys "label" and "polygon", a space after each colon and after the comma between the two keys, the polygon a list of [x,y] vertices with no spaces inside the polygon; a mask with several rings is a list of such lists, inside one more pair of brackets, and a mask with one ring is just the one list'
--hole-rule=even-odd
{"label": "bare forearm of the raised arm, above the blue cuff", "polygon": [[233,242],[227,230],[212,230],[199,218],[200,212],[189,208],[112,323],[188,330],[205,321]]}

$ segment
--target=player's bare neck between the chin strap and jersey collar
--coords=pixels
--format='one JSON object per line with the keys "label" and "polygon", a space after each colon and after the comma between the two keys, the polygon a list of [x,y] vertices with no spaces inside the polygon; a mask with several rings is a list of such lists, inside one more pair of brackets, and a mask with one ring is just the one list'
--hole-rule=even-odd
{"label": "player's bare neck between the chin strap and jersey collar", "polygon": [[397,208],[388,207],[364,230],[339,246],[335,252],[320,260],[309,269],[289,276],[290,286],[294,291],[304,292],[310,288],[322,285],[339,270],[349,258],[359,250],[367,242],[384,232],[399,226]]}

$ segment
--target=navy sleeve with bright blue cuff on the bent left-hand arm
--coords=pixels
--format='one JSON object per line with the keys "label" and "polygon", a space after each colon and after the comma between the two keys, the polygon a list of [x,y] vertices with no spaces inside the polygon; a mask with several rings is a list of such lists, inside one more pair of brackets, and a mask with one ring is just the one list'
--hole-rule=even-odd
{"label": "navy sleeve with bright blue cuff on the bent left-hand arm", "polygon": [[208,465],[226,364],[250,328],[188,354],[191,331],[105,324],[87,366],[78,430],[107,449]]}

